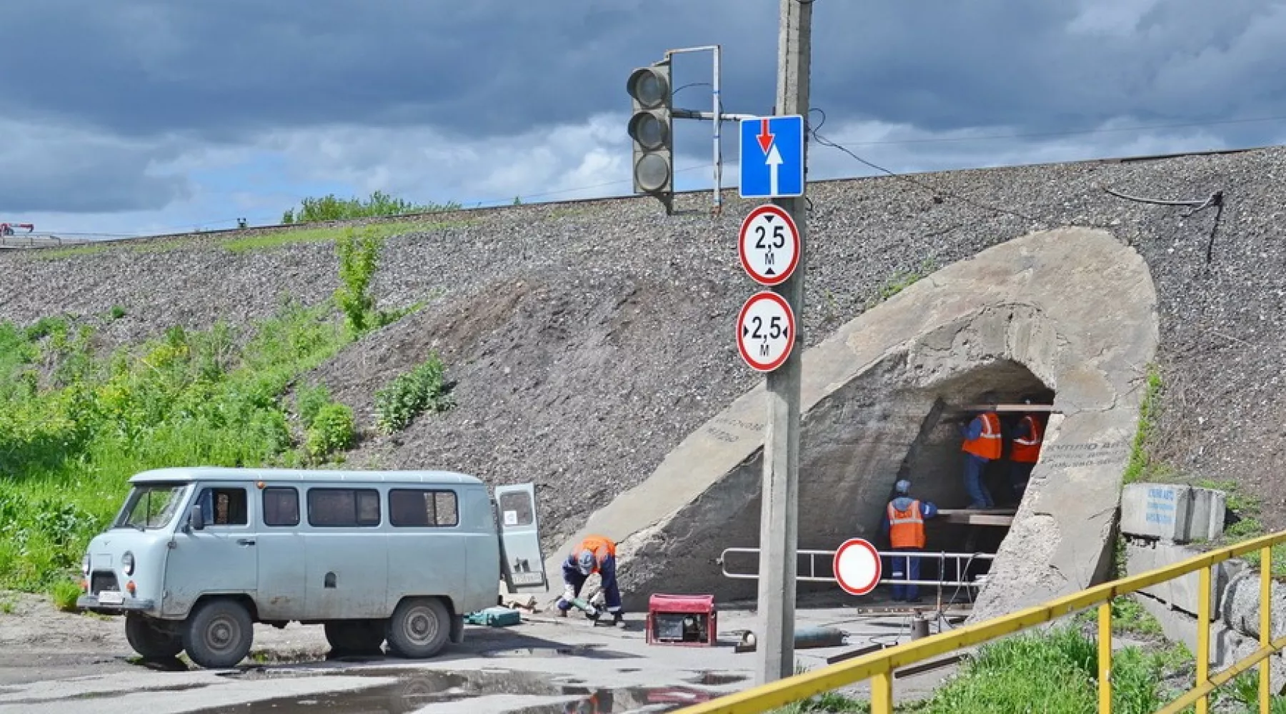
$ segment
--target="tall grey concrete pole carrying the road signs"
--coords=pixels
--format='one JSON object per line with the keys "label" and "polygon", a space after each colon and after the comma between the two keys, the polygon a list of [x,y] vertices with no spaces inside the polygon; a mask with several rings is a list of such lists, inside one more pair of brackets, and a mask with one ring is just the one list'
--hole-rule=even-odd
{"label": "tall grey concrete pole carrying the road signs", "polygon": [[[775,114],[809,113],[809,68],[813,45],[813,0],[781,0],[777,48]],[[805,137],[806,139],[806,137]],[[808,153],[805,140],[805,157]],[[806,158],[805,158],[805,166]],[[805,177],[806,186],[806,177]],[[773,199],[799,226],[800,259],[784,283],[774,288],[796,316],[804,308],[805,198]],[[768,374],[768,430],[764,434],[763,510],[759,516],[759,615],[763,619],[759,683],[795,674],[795,577],[799,541],[800,354],[795,348],[786,362]]]}

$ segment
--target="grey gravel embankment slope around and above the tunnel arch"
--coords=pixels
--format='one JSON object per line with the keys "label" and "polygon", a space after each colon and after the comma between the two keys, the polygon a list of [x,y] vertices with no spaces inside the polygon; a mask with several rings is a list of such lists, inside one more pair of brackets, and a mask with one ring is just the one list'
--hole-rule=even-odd
{"label": "grey gravel embankment slope around and above the tunnel arch", "polygon": [[[1156,452],[1186,474],[1228,478],[1286,527],[1286,149],[1139,162],[1035,166],[814,184],[801,336],[860,312],[901,271],[944,266],[1033,229],[1093,225],[1145,256],[1161,295],[1166,393]],[[926,187],[928,186],[928,187]],[[1223,191],[1217,209],[1125,200]],[[367,415],[372,394],[437,349],[458,407],[376,438],[352,455],[376,466],[445,466],[541,484],[547,542],[646,478],[684,434],[756,381],[733,321],[755,286],[736,258],[754,205],[710,195],[526,205],[453,217],[453,227],[390,239],[374,286],[383,304],[427,308],[372,334],[318,371]],[[997,209],[993,209],[997,208]],[[458,221],[469,221],[460,225]],[[229,253],[213,236],[177,248],[40,259],[0,253],[0,318],[100,313],[122,304],[111,339],[170,324],[270,312],[336,286],[329,244]]]}

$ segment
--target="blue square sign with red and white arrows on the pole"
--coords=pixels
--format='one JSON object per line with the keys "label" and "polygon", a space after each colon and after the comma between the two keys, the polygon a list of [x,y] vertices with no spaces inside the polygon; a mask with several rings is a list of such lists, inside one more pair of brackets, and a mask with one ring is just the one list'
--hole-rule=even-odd
{"label": "blue square sign with red and white arrows on the pole", "polygon": [[741,198],[804,195],[804,117],[741,119]]}

